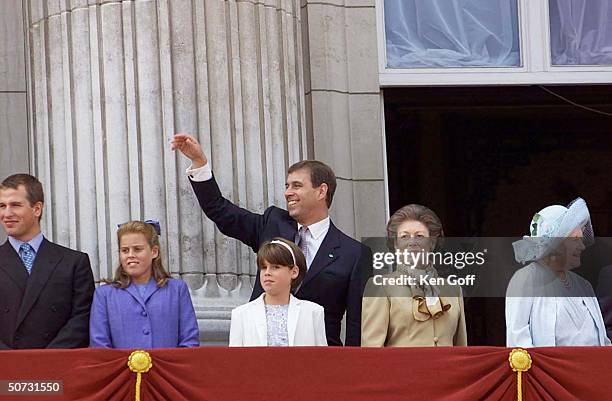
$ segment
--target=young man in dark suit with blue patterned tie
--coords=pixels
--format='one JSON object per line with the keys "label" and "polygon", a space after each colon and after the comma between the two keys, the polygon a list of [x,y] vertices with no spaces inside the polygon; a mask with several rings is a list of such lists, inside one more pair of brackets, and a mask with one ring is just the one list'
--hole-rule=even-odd
{"label": "young man in dark suit with blue patterned tie", "polygon": [[0,184],[0,349],[89,345],[94,280],[89,257],[44,238],[44,194],[33,176]]}

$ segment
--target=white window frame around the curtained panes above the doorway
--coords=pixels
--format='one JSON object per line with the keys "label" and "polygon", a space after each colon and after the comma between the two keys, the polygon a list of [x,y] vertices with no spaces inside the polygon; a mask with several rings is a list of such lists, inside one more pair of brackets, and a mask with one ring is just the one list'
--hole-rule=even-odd
{"label": "white window frame around the curtained panes above the doorway", "polygon": [[381,87],[612,83],[612,66],[553,66],[548,0],[517,0],[521,66],[387,68],[384,0],[376,0]]}

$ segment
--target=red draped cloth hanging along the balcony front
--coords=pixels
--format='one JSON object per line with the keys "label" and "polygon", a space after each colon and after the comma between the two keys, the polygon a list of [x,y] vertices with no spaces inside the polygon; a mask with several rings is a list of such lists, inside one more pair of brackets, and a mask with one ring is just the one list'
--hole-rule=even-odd
{"label": "red draped cloth hanging along the balcony front", "polygon": [[[132,401],[132,350],[0,352],[0,380],[62,380],[64,393],[41,400]],[[150,350],[142,401],[197,400],[516,400],[510,349],[225,348]],[[611,399],[612,348],[528,350],[523,400]],[[38,399],[11,397],[0,400]]]}

